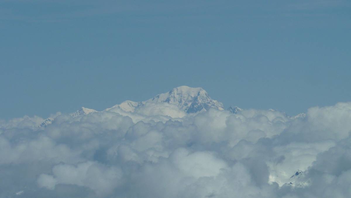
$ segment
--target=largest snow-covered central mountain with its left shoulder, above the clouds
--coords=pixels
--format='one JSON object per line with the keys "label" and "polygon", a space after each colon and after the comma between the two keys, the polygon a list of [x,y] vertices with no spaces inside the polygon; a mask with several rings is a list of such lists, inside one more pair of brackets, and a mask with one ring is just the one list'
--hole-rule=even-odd
{"label": "largest snow-covered central mountain with its left shoulder, above the clouds", "polygon": [[[179,109],[186,113],[196,113],[199,111],[206,111],[210,108],[224,110],[223,103],[210,98],[208,93],[203,88],[191,88],[187,86],[180,86],[172,90],[159,94],[149,100],[143,102],[124,101],[112,108],[120,108],[125,111],[134,112],[135,108],[143,106],[147,103],[169,103],[176,105]],[[110,110],[108,108],[106,110]]]}

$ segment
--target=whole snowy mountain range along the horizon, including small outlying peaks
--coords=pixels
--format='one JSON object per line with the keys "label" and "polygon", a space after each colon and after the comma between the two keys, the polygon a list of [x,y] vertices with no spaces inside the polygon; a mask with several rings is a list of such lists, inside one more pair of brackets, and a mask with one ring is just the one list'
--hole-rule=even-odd
{"label": "whole snowy mountain range along the horizon, including small outlying peaks", "polygon": [[[160,106],[158,103],[163,103],[167,104],[166,106]],[[104,111],[110,111],[112,109],[121,109],[126,112],[134,112],[137,111],[137,113],[142,112],[148,112],[150,113],[151,111],[153,113],[159,113],[161,112],[160,109],[157,110],[157,108],[175,108],[179,109],[179,112],[177,113],[177,116],[184,116],[182,112],[184,113],[197,113],[200,111],[207,111],[210,108],[218,109],[218,110],[224,110],[223,103],[213,100],[208,93],[200,87],[197,88],[192,88],[188,86],[180,86],[173,88],[172,90],[163,93],[163,94],[158,94],[157,96],[154,96],[153,98],[150,98],[149,100],[142,101],[142,102],[133,102],[130,100],[124,101],[120,104],[117,104],[111,108],[107,108]],[[227,109],[233,114],[237,114],[240,111],[243,111],[243,109],[237,107],[237,106],[231,106]],[[271,111],[275,111],[273,109],[270,109]],[[167,110],[166,110],[167,111]],[[74,113],[71,113],[72,117],[79,117],[83,115],[88,115],[92,113],[98,113],[100,111],[94,110],[94,109],[88,109],[85,107],[81,107],[79,110],[75,111]],[[162,111],[163,112],[163,111]],[[173,112],[173,111],[172,111]],[[174,112],[173,112],[174,113]],[[179,114],[180,113],[180,114]],[[163,112],[161,115],[166,115],[166,116],[171,116],[169,112]],[[176,116],[176,117],[177,117]],[[289,116],[288,116],[289,117]],[[299,114],[294,117],[289,117],[290,119],[298,119],[298,118],[303,118],[305,117],[305,114]],[[54,119],[49,117],[46,120],[44,120],[39,127],[45,127],[48,124],[51,124]]]}

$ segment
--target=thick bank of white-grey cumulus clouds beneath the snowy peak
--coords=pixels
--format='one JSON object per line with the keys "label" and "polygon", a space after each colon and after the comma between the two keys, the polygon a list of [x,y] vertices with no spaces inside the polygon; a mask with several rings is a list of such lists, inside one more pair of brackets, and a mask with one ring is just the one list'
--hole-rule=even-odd
{"label": "thick bank of white-grey cumulus clouds beneath the snowy peak", "polygon": [[0,121],[0,197],[351,197],[351,103],[54,117]]}

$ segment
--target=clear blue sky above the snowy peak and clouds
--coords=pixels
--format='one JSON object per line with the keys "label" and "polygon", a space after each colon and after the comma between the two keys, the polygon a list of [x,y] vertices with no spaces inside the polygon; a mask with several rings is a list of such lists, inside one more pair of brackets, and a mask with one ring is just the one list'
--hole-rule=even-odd
{"label": "clear blue sky above the snowy peak and clouds", "polygon": [[350,101],[350,1],[0,1],[0,119],[173,87],[289,115]]}

